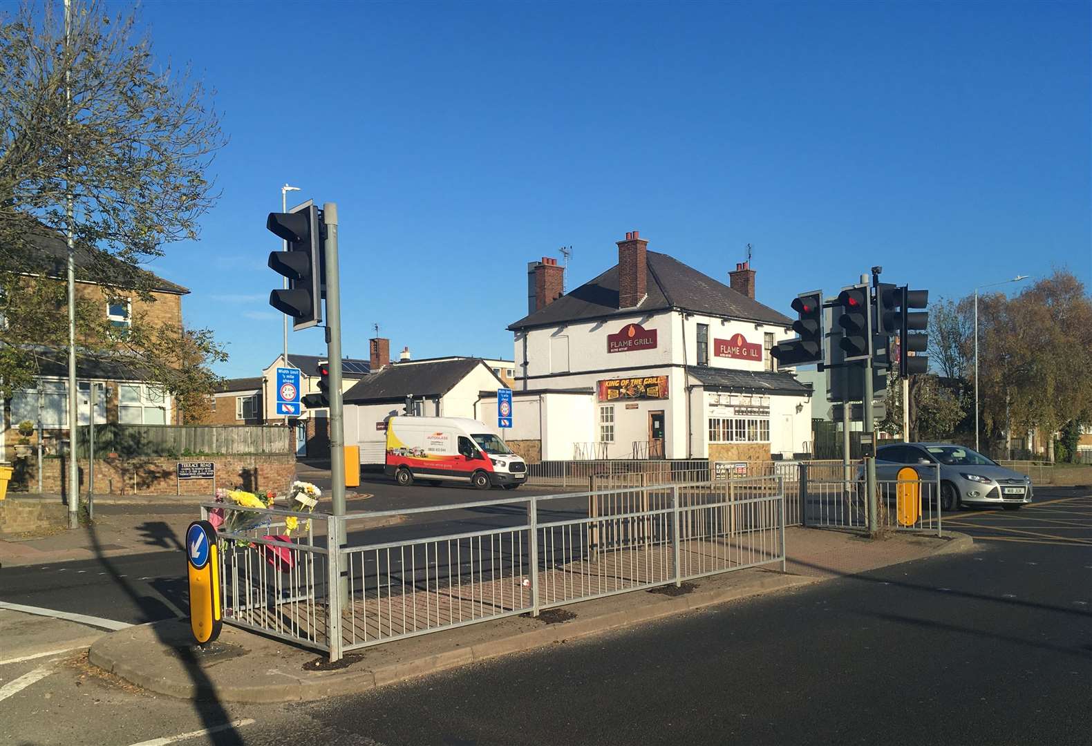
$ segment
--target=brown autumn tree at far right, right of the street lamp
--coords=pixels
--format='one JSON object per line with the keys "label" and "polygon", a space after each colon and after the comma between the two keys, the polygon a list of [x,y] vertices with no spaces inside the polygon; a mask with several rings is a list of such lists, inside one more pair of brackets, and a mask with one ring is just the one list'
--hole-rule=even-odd
{"label": "brown autumn tree at far right, right of the street lamp", "polygon": [[1037,428],[1048,442],[1092,411],[1092,299],[1059,269],[1012,299],[980,299],[980,390],[987,432]]}

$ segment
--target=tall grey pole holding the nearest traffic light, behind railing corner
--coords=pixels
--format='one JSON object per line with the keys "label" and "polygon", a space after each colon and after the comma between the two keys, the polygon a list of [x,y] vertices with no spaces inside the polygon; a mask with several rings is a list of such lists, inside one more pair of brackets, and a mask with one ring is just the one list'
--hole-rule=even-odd
{"label": "tall grey pole holding the nearest traffic light, behind railing corner", "polygon": [[[345,515],[345,426],[342,410],[341,280],[337,272],[337,203],[322,205],[327,225],[327,357],[330,365],[330,493],[333,514]],[[345,521],[337,522],[337,545],[345,545]],[[341,597],[348,598],[348,578],[342,571]]]}

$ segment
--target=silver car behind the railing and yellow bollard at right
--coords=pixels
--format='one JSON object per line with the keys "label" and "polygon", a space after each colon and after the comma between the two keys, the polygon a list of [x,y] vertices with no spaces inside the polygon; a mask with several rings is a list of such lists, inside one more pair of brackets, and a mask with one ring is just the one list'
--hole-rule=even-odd
{"label": "silver car behind the railing and yellow bollard at right", "polygon": [[940,468],[940,506],[1000,505],[1017,510],[1031,502],[1031,478],[1006,469],[980,453],[951,443],[894,443],[876,449],[876,479],[894,480],[905,466],[918,469],[923,480],[936,479]]}

